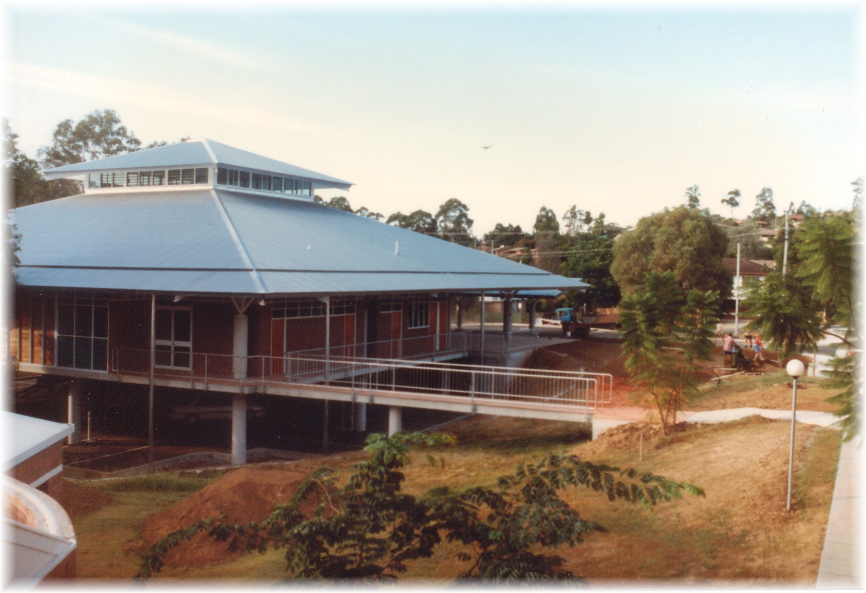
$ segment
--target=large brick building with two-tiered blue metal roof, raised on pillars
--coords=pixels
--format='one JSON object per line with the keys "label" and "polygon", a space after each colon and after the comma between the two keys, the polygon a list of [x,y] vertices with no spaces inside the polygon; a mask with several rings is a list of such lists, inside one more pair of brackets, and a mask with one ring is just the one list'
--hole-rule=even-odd
{"label": "large brick building with two-tiered blue metal roof, raised on pillars", "polygon": [[[74,439],[83,380],[216,391],[232,399],[233,460],[243,463],[248,394],[325,410],[336,400],[356,422],[374,398],[359,403],[354,386],[372,393],[391,377],[393,390],[405,360],[507,364],[539,344],[537,332],[513,335],[510,314],[498,335],[463,330],[462,301],[533,304],[588,286],[315,203],[316,190],[352,184],[213,140],[45,176],[80,179],[84,193],[11,213],[22,239],[9,346],[22,371],[71,379]],[[462,393],[469,402],[475,384]],[[376,401],[391,402],[391,429],[401,401],[456,409],[424,397]]]}

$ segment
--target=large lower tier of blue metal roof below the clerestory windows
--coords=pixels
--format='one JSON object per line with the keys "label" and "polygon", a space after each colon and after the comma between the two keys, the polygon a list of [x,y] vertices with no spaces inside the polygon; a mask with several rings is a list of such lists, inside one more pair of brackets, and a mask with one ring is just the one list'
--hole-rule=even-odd
{"label": "large lower tier of blue metal roof below the clerestory windows", "polygon": [[587,287],[304,200],[223,188],[94,192],[12,211],[19,281],[166,293],[359,294]]}

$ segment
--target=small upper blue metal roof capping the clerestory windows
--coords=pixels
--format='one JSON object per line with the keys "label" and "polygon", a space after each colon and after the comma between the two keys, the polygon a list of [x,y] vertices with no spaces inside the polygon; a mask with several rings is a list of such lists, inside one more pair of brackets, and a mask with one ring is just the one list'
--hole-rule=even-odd
{"label": "small upper blue metal roof capping the clerestory windows", "polygon": [[242,151],[210,139],[194,139],[176,144],[147,148],[142,151],[127,152],[114,157],[98,158],[83,163],[66,164],[48,169],[44,175],[48,179],[74,177],[82,173],[97,171],[117,171],[126,169],[146,169],[151,167],[186,167],[224,164],[265,173],[277,173],[300,177],[315,182],[320,187],[334,187],[348,190],[351,182],[343,181],[294,164],[282,163],[273,158],[262,157],[253,152]]}

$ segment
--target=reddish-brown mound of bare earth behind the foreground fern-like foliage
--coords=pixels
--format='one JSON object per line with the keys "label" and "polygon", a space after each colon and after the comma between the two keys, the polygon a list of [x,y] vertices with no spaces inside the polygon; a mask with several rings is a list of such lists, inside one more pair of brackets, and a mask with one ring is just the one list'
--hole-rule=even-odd
{"label": "reddish-brown mound of bare earth behind the foreground fern-like foliage", "polygon": [[[202,519],[224,515],[226,521],[235,525],[268,519],[275,506],[291,500],[303,480],[306,476],[296,472],[242,467],[145,519],[141,525],[142,536],[150,546],[167,534]],[[301,511],[312,512],[317,501],[318,497],[311,497],[301,505]],[[165,564],[204,566],[240,555],[240,551],[229,552],[227,542],[217,542],[199,533],[169,552]]]}

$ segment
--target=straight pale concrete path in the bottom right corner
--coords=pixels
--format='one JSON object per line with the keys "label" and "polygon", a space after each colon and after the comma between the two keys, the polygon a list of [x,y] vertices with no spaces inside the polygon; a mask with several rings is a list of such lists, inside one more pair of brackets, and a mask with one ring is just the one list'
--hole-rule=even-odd
{"label": "straight pale concrete path in the bottom right corner", "polygon": [[860,539],[860,506],[863,488],[860,480],[862,438],[857,436],[842,446],[830,519],[824,537],[824,551],[818,567],[818,589],[862,589],[863,545]]}

